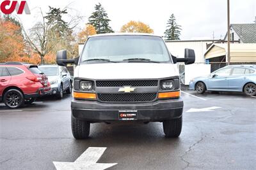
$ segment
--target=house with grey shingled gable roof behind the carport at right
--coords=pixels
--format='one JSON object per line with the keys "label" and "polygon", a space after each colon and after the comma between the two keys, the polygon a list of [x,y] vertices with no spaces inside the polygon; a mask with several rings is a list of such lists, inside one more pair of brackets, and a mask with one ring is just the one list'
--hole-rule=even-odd
{"label": "house with grey shingled gable roof behind the carport at right", "polygon": [[[227,34],[224,40],[227,41]],[[230,41],[256,43],[256,24],[231,24]]]}

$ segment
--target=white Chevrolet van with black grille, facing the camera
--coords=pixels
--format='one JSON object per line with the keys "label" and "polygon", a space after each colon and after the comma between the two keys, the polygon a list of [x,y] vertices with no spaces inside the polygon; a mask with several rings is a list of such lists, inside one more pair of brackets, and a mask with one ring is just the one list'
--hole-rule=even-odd
{"label": "white Chevrolet van with black grille, facing the camera", "polygon": [[183,101],[177,62],[195,62],[194,50],[172,56],[161,36],[98,34],[90,36],[76,59],[57,53],[57,63],[76,64],[71,103],[72,133],[88,138],[95,122],[163,122],[166,137],[182,129]]}

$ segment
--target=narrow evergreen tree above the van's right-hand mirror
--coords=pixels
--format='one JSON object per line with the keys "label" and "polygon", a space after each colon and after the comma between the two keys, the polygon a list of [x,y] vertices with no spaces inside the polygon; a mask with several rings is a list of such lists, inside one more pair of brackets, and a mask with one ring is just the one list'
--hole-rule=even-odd
{"label": "narrow evergreen tree above the van's right-hand mirror", "polygon": [[164,37],[167,40],[179,40],[181,30],[182,30],[181,26],[176,23],[176,18],[172,14],[167,22],[166,31],[164,32]]}

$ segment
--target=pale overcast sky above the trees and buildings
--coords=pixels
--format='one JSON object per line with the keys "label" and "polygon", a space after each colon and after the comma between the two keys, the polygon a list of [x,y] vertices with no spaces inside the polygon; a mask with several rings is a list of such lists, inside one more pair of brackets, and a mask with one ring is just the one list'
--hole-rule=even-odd
{"label": "pale overcast sky above the trees and buildings", "polygon": [[[182,26],[181,39],[220,39],[227,32],[226,0],[27,0],[31,15],[19,15],[28,29],[38,20],[38,8],[44,12],[48,6],[72,8],[72,15],[84,16],[80,27],[88,21],[94,6],[101,3],[111,20],[114,31],[130,20],[148,24],[154,33],[163,35],[166,22],[174,13],[177,23]],[[255,0],[230,0],[230,23],[253,23],[256,16]]]}

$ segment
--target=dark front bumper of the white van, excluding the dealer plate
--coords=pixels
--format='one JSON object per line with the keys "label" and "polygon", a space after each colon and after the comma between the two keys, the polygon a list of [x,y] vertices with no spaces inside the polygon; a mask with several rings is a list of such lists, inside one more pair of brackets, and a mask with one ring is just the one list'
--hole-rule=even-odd
{"label": "dark front bumper of the white van, excluding the dealer plate", "polygon": [[120,110],[136,110],[138,121],[161,122],[182,116],[182,99],[159,100],[154,103],[99,103],[73,99],[72,117],[89,122],[115,122]]}

